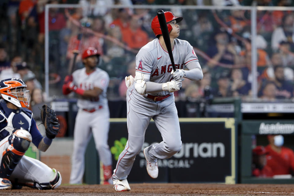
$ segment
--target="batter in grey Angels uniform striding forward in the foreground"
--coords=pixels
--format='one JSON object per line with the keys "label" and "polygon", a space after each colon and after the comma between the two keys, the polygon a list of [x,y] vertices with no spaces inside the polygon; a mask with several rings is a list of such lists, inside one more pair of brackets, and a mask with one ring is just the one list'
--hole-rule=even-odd
{"label": "batter in grey Angels uniform striding forward in the foreground", "polygon": [[[126,178],[130,174],[136,155],[142,149],[145,130],[151,119],[154,120],[163,141],[146,147],[143,151],[150,177],[158,176],[158,158],[170,158],[181,149],[179,118],[173,92],[181,88],[183,78],[201,80],[203,77],[193,47],[187,41],[176,39],[180,32],[178,22],[183,20],[183,17],[175,17],[171,12],[164,12],[164,15],[176,71],[172,70],[156,16],[151,27],[158,39],[147,43],[138,52],[135,78],[126,77],[129,138],[112,175],[116,191],[130,190]],[[189,70],[184,71],[184,67]]]}

